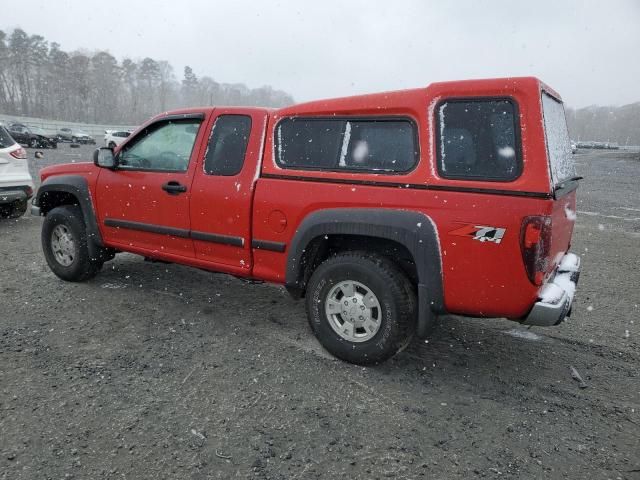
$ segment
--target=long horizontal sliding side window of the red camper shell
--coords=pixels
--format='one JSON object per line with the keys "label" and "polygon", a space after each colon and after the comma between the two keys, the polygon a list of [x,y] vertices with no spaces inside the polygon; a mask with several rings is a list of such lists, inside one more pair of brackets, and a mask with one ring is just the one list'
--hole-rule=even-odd
{"label": "long horizontal sliding side window of the red camper shell", "polygon": [[400,173],[417,159],[410,120],[294,117],[276,128],[276,162],[283,168]]}

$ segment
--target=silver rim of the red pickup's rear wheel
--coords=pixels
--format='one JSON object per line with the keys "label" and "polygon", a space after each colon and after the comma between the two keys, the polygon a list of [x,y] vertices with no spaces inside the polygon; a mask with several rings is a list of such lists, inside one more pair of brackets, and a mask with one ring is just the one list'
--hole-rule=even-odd
{"label": "silver rim of the red pickup's rear wheel", "polygon": [[349,342],[366,342],[380,330],[382,309],[378,297],[360,282],[338,283],[329,291],[324,306],[331,328]]}

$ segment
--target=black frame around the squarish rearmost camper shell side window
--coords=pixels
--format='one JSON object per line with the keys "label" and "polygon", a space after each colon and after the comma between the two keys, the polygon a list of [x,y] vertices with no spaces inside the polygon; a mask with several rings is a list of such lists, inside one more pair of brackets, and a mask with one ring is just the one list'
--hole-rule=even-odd
{"label": "black frame around the squarish rearmost camper shell side window", "polygon": [[[440,157],[441,155],[440,115],[439,115],[440,107],[444,103],[470,103],[470,102],[496,102],[496,101],[498,102],[507,101],[513,107],[514,137],[515,137],[514,140],[516,142],[515,150],[516,150],[516,163],[517,163],[516,164],[517,170],[515,172],[515,176],[513,176],[512,178],[492,178],[488,176],[479,176],[479,175],[450,175],[450,174],[446,174],[446,172],[443,172],[442,159]],[[522,176],[522,173],[524,171],[524,162],[522,160],[522,139],[520,136],[520,108],[515,98],[511,96],[505,96],[505,95],[500,95],[495,97],[493,96],[445,97],[438,100],[438,103],[436,103],[436,107],[433,111],[433,115],[434,115],[434,126],[435,126],[433,135],[435,135],[435,146],[436,146],[435,162],[436,162],[436,170],[440,178],[443,178],[446,180],[511,183],[511,182],[515,182]]]}

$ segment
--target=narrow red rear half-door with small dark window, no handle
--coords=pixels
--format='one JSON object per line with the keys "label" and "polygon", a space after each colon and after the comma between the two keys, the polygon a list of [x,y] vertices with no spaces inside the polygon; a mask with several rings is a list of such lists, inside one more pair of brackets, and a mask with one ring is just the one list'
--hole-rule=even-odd
{"label": "narrow red rear half-door with small dark window, no handle", "polygon": [[251,268],[252,199],[266,120],[266,111],[216,108],[193,182],[191,235],[196,258],[239,275],[248,275]]}

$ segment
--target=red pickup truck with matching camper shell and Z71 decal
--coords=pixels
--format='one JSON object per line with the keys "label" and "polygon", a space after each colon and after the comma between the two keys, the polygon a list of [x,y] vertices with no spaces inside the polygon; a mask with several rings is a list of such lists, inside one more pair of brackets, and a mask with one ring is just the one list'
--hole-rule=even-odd
{"label": "red pickup truck with matching camper shell and Z71 decal", "polygon": [[359,364],[445,313],[557,325],[579,276],[580,177],[560,96],[536,78],[163,113],[41,179],[58,277],[126,251],[283,284]]}

